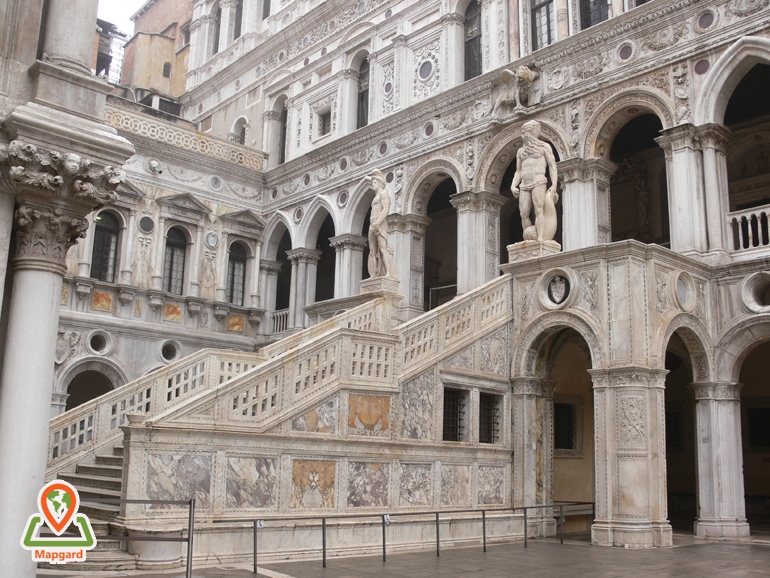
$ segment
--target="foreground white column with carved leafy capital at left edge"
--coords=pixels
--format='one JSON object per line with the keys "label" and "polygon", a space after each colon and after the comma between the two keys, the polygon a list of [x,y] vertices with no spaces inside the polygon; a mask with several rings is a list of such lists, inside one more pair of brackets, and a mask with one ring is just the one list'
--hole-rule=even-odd
{"label": "foreground white column with carved leafy capital at left edge", "polygon": [[[93,30],[90,30],[93,38]],[[45,483],[59,302],[67,250],[85,236],[84,218],[113,202],[125,175],[72,153],[18,140],[0,147],[0,187],[17,195],[16,253],[0,381],[0,525],[3,573],[34,578],[36,565],[19,547]]]}

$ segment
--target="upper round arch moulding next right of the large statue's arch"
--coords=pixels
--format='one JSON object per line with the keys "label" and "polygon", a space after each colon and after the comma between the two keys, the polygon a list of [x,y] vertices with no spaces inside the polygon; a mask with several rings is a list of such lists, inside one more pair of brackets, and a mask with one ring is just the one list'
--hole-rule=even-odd
{"label": "upper round arch moulding next right of the large statue's arch", "polygon": [[583,156],[609,159],[612,141],[621,128],[634,117],[654,114],[664,129],[674,126],[670,97],[649,88],[626,90],[610,98],[587,123]]}

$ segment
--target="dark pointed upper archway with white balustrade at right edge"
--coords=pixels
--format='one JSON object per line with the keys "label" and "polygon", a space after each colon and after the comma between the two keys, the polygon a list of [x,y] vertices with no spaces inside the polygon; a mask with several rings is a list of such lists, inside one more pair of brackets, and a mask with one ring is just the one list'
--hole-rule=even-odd
{"label": "dark pointed upper archway with white balustrade at right edge", "polygon": [[725,110],[733,132],[727,148],[731,249],[770,245],[770,65],[756,64]]}

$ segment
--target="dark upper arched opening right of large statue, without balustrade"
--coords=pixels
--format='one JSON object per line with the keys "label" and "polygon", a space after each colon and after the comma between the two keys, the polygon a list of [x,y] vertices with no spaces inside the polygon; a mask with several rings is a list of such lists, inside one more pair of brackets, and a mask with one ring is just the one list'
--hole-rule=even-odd
{"label": "dark upper arched opening right of large statue, without balustrade", "polygon": [[[625,113],[638,114],[638,110]],[[635,239],[671,246],[666,157],[655,142],[661,130],[657,115],[639,114],[612,141],[610,160],[618,165],[610,180],[613,241]]]}

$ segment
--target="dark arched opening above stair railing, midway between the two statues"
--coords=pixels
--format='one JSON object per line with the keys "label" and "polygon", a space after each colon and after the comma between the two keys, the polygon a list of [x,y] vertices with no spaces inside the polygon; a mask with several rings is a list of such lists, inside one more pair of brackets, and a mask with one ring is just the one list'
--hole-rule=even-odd
{"label": "dark arched opening above stair railing, midway between the two statues", "polygon": [[457,192],[451,178],[431,193],[426,211],[424,309],[430,311],[457,295],[457,211],[450,198]]}

